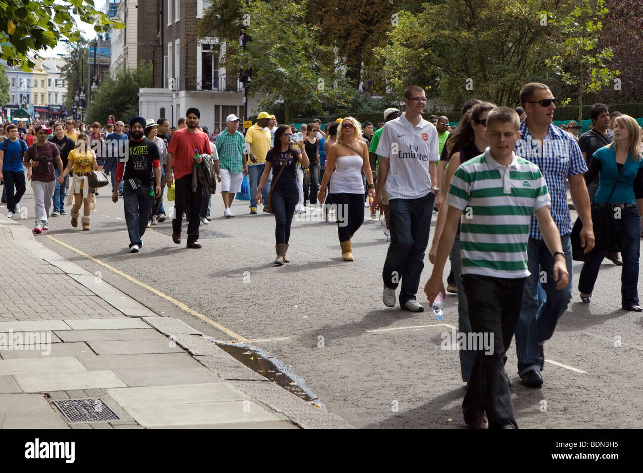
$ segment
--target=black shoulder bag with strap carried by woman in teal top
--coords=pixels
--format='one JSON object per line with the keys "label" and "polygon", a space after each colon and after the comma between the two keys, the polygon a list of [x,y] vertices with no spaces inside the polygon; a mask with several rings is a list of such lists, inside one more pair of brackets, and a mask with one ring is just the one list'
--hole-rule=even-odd
{"label": "black shoulder bag with strap carried by woman in teal top", "polygon": [[626,165],[620,168],[619,177],[614,182],[611,188],[610,195],[607,198],[607,203],[592,203],[592,225],[594,230],[594,247],[592,251],[584,253],[584,247],[581,246],[581,230],[583,230],[583,221],[577,218],[570,234],[570,241],[572,243],[572,259],[574,261],[593,261],[597,252],[602,250],[610,250],[610,245],[615,243],[615,234],[618,231],[612,218],[612,211],[610,208],[611,195],[616,189],[616,185],[620,181]]}

